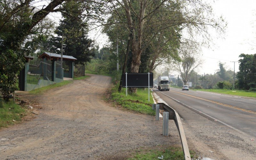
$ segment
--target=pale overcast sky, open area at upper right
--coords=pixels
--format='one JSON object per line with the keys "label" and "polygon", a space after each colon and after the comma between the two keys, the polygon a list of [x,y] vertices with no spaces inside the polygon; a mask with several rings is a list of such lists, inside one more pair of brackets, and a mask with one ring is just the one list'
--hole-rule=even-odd
{"label": "pale overcast sky, open area at upper right", "polygon": [[[255,54],[256,46],[256,1],[255,0],[215,0],[212,5],[216,15],[222,15],[227,21],[225,39],[215,39],[212,49],[203,49],[204,60],[198,74],[210,74],[218,69],[218,61],[226,62],[228,68],[234,69],[241,53]],[[254,49],[253,49],[254,48]],[[238,71],[238,62],[235,63]]]}

